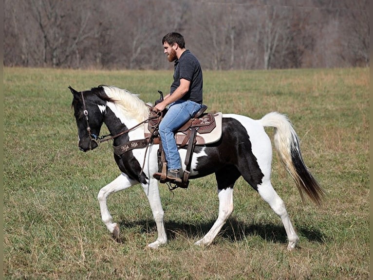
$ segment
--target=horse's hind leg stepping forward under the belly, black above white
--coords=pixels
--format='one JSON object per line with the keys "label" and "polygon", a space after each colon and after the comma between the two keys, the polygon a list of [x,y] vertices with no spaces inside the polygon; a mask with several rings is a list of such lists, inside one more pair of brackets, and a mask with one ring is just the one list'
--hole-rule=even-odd
{"label": "horse's hind leg stepping forward under the belly, black above white", "polygon": [[228,169],[215,173],[218,181],[219,216],[203,239],[195,243],[196,245],[210,245],[233,212],[233,185],[240,174],[235,167]]}

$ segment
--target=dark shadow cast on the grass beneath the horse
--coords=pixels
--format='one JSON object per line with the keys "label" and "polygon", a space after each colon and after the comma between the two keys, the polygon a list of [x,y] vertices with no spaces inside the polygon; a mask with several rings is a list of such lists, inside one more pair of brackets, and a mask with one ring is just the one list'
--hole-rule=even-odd
{"label": "dark shadow cast on the grass beneath the horse", "polygon": [[[197,241],[210,230],[214,222],[215,220],[205,223],[190,224],[166,221],[165,227],[167,237],[169,240],[173,240],[177,235],[184,235],[188,239],[195,239],[195,241]],[[156,225],[153,220],[138,220],[134,222],[122,220],[119,222],[119,225],[121,229],[139,227],[142,233],[152,233],[156,231]],[[297,226],[296,231],[299,237],[304,237],[309,241],[323,243],[325,240],[323,233],[312,226]],[[282,224],[270,222],[248,224],[235,218],[229,218],[226,221],[219,236],[231,240],[232,242],[240,242],[245,240],[248,236],[259,236],[268,242],[287,243],[286,232]]]}

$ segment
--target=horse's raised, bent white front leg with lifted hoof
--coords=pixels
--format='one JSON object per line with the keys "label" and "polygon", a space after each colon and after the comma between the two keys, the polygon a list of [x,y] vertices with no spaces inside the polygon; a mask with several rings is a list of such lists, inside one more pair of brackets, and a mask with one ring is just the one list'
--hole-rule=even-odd
{"label": "horse's raised, bent white front leg with lifted hoof", "polygon": [[98,192],[97,200],[100,203],[101,219],[108,230],[112,233],[115,240],[119,240],[120,230],[117,223],[112,222],[112,216],[109,213],[108,205],[106,203],[107,198],[112,193],[127,189],[135,184],[138,184],[138,182],[131,180],[126,174],[122,173]]}

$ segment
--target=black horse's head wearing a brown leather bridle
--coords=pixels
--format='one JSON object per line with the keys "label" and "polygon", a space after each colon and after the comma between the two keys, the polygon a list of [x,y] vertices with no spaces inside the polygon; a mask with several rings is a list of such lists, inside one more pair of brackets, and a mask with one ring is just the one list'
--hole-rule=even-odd
{"label": "black horse's head wearing a brown leather bridle", "polygon": [[98,146],[104,116],[99,106],[105,106],[105,101],[99,99],[91,91],[78,92],[69,86],[74,98],[72,107],[78,127],[79,149],[83,152],[93,150]]}

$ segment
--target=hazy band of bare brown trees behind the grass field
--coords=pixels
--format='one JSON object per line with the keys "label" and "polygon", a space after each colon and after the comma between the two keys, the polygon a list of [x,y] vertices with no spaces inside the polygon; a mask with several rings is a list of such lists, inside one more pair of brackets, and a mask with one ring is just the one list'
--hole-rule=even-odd
{"label": "hazy band of bare brown trees behind the grass field", "polygon": [[204,69],[369,65],[368,0],[4,0],[4,65],[168,69],[177,31]]}

